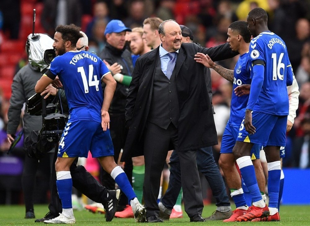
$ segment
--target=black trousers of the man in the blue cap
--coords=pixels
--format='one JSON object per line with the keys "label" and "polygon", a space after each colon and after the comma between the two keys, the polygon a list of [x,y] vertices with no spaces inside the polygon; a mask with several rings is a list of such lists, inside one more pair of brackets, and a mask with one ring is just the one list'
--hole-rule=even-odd
{"label": "black trousers of the man in the blue cap", "polygon": [[[110,120],[111,120],[110,133],[114,146],[114,161],[117,163],[119,155],[121,153],[121,149],[125,145],[128,130],[125,127],[125,114],[118,116],[110,115]],[[127,175],[131,185],[132,185],[132,168],[133,166],[131,160],[125,162],[124,172]],[[115,189],[114,179],[102,168],[101,168],[101,182],[107,189],[109,190]],[[126,195],[121,191],[121,198],[120,201],[118,202],[118,205],[120,209],[123,209],[126,206],[126,204],[128,204],[128,199]]]}

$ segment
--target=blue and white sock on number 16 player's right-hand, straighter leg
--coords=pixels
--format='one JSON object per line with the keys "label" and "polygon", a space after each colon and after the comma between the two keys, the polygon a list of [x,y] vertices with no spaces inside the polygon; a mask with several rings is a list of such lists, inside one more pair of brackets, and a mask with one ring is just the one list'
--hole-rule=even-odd
{"label": "blue and white sock on number 16 player's right-hand, straighter leg", "polygon": [[269,207],[278,208],[279,188],[281,176],[281,162],[268,163],[268,196]]}

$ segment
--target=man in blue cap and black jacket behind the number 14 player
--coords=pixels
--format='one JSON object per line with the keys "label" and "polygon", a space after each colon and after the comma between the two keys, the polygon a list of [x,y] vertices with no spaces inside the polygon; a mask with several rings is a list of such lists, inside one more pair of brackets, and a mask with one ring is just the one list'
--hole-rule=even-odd
{"label": "man in blue cap and black jacket behind the number 14 player", "polygon": [[[103,51],[100,53],[100,58],[108,62],[108,64],[110,65],[113,65],[114,63],[119,64],[121,66],[120,74],[131,76],[133,71],[133,65],[131,61],[131,53],[125,48],[126,31],[131,31],[131,29],[126,28],[121,20],[111,20],[107,24],[104,31],[104,35],[107,39],[107,44],[104,47]],[[113,71],[111,69],[110,71],[113,77],[119,75],[113,74]],[[115,162],[118,162],[119,154],[121,152],[121,149],[124,148],[127,135],[127,129],[125,128],[125,105],[127,94],[128,86],[122,85],[121,83],[117,82],[113,100],[109,108],[109,115],[111,120],[110,133],[114,146]],[[125,164],[124,171],[129,181],[131,181],[131,159]],[[102,171],[102,184],[108,189],[115,189],[115,182],[113,178],[105,171]],[[126,196],[122,195],[118,205],[118,211],[123,210],[126,204],[128,204]]]}

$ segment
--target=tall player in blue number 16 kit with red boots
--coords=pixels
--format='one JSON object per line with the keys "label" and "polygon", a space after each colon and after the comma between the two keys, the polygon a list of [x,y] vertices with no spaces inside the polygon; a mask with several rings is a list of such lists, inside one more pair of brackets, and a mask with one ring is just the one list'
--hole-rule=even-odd
{"label": "tall player in blue number 16 kit with red boots", "polygon": [[[240,126],[233,153],[242,178],[249,189],[253,206],[237,221],[279,221],[278,197],[281,162],[280,146],[286,143],[289,101],[286,86],[293,82],[286,44],[269,31],[267,12],[251,10],[247,16],[253,35],[250,43],[251,89],[246,114]],[[268,162],[268,195],[266,206],[260,196],[250,150],[254,144],[265,146]],[[268,208],[269,207],[269,208]]]}

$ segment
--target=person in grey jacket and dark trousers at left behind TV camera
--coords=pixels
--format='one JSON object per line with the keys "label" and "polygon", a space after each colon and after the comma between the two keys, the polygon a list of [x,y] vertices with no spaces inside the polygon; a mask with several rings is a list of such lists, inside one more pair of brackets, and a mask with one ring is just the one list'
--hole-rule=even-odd
{"label": "person in grey jacket and dark trousers at left behind TV camera", "polygon": [[[27,53],[28,52],[29,51],[27,51]],[[40,68],[33,67],[30,63],[21,68],[14,76],[11,86],[12,95],[10,98],[10,107],[7,113],[7,140],[10,144],[13,142],[17,127],[20,124],[20,114],[22,112],[24,103],[28,100],[29,97],[35,94],[33,87],[36,85],[41,76],[42,73],[40,72]],[[40,130],[42,128],[41,116],[33,116],[25,112],[23,121],[24,138],[30,135],[31,131]],[[48,162],[49,159],[52,159],[52,154],[46,155],[41,159],[40,162],[38,162],[37,159],[28,157],[27,154],[25,155],[24,168],[21,179],[26,207],[25,218],[35,218],[33,209],[35,176],[39,165],[43,167],[50,166],[50,163]]]}

